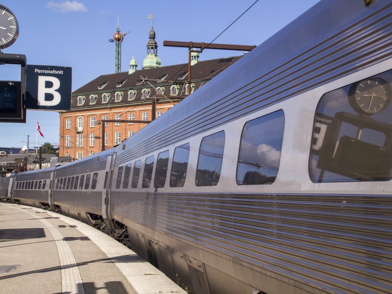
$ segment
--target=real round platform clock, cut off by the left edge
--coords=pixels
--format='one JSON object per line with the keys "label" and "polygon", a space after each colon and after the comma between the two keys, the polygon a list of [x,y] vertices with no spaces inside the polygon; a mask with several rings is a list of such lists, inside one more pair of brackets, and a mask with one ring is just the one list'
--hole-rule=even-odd
{"label": "real round platform clock, cut off by the left edge", "polygon": [[19,25],[15,15],[0,4],[0,49],[11,46],[18,38]]}

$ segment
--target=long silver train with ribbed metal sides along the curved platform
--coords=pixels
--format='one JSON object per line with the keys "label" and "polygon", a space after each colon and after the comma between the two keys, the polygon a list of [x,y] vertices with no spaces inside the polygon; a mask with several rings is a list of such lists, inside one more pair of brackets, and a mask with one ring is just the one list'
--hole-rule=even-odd
{"label": "long silver train with ribbed metal sides along the curved platform", "polygon": [[392,1],[365,2],[320,1],[131,139],[1,197],[196,294],[392,293]]}

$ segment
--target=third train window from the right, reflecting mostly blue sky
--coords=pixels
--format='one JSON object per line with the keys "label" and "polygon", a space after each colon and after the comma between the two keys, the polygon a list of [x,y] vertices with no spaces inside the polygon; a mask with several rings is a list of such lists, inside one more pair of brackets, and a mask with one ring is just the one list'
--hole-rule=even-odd
{"label": "third train window from the right, reflecting mostly blue sky", "polygon": [[204,137],[200,143],[196,186],[216,186],[221,177],[224,131]]}

